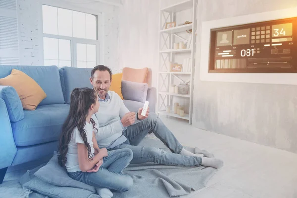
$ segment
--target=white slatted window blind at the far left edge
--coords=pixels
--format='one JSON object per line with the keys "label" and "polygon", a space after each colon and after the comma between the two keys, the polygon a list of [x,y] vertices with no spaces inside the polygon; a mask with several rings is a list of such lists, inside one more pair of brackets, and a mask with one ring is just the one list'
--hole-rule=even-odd
{"label": "white slatted window blind at the far left edge", "polygon": [[16,0],[0,0],[0,65],[19,65]]}

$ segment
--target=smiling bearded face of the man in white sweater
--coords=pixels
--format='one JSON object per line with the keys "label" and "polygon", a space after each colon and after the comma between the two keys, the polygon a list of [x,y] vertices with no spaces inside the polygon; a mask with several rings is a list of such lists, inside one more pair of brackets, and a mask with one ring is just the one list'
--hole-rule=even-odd
{"label": "smiling bearded face of the man in white sweater", "polygon": [[98,92],[99,97],[105,99],[111,84],[109,72],[96,70],[93,79],[90,79],[90,81],[94,89]]}

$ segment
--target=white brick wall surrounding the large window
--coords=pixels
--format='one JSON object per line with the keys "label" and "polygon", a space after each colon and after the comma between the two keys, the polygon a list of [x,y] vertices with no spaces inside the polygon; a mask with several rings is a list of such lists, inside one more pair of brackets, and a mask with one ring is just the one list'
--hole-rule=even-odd
{"label": "white brick wall surrounding the large window", "polygon": [[[101,64],[111,67],[114,73],[119,70],[118,62],[118,7],[100,2],[90,2],[84,0],[63,0],[54,1],[57,5],[67,4],[75,8],[92,9],[98,13],[103,13],[103,60]],[[17,0],[18,24],[19,24],[19,46],[21,65],[43,65],[40,48],[39,29],[41,19],[40,0]],[[72,2],[72,3],[70,3]],[[116,2],[116,1],[113,1]],[[100,31],[100,30],[99,30]]]}

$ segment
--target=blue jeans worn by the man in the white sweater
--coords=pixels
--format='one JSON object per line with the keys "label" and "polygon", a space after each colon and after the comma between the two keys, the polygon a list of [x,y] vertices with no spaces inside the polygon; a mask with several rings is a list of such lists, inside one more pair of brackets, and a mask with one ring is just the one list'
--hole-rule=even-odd
{"label": "blue jeans worn by the man in the white sweater", "polygon": [[[155,147],[137,146],[150,131],[152,131],[172,153],[165,152],[164,150]],[[155,113],[150,113],[147,119],[144,119],[135,125],[130,125],[123,134],[128,140],[108,150],[122,148],[131,149],[133,152],[131,163],[133,164],[145,162],[154,162],[156,164],[172,166],[201,166],[202,164],[201,157],[188,157],[179,154],[183,149],[183,146]]]}

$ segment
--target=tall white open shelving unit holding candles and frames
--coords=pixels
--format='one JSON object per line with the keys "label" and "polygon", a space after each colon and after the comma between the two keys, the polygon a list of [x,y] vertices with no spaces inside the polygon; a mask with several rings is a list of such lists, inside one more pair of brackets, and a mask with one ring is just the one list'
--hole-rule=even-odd
{"label": "tall white open shelving unit holding candles and frames", "polygon": [[[191,17],[187,18],[190,24],[176,24],[176,27],[165,29],[167,22],[177,21],[179,12],[189,11],[192,13]],[[186,12],[187,12],[186,11]],[[189,121],[192,124],[192,107],[193,107],[193,81],[194,81],[194,57],[196,48],[196,11],[197,0],[186,0],[172,6],[163,8],[160,10],[160,32],[159,32],[159,69],[158,69],[158,82],[157,82],[157,112],[159,115],[167,115],[177,117]],[[192,32],[186,33],[187,30]],[[187,36],[192,34],[192,45],[186,49],[174,49],[174,43],[176,40],[186,41],[180,34],[186,34]],[[178,55],[187,56],[190,58],[190,71],[171,72],[168,68],[168,62],[175,62],[175,57]],[[179,62],[178,64],[183,64]],[[183,80],[183,78],[187,80]],[[174,79],[182,81],[189,81],[189,94],[177,94],[171,93],[170,85],[173,84]],[[182,99],[186,101],[185,106],[189,106],[189,109],[185,109],[185,116],[179,116],[174,113],[173,100]],[[171,111],[167,112],[167,106],[171,106]]]}

